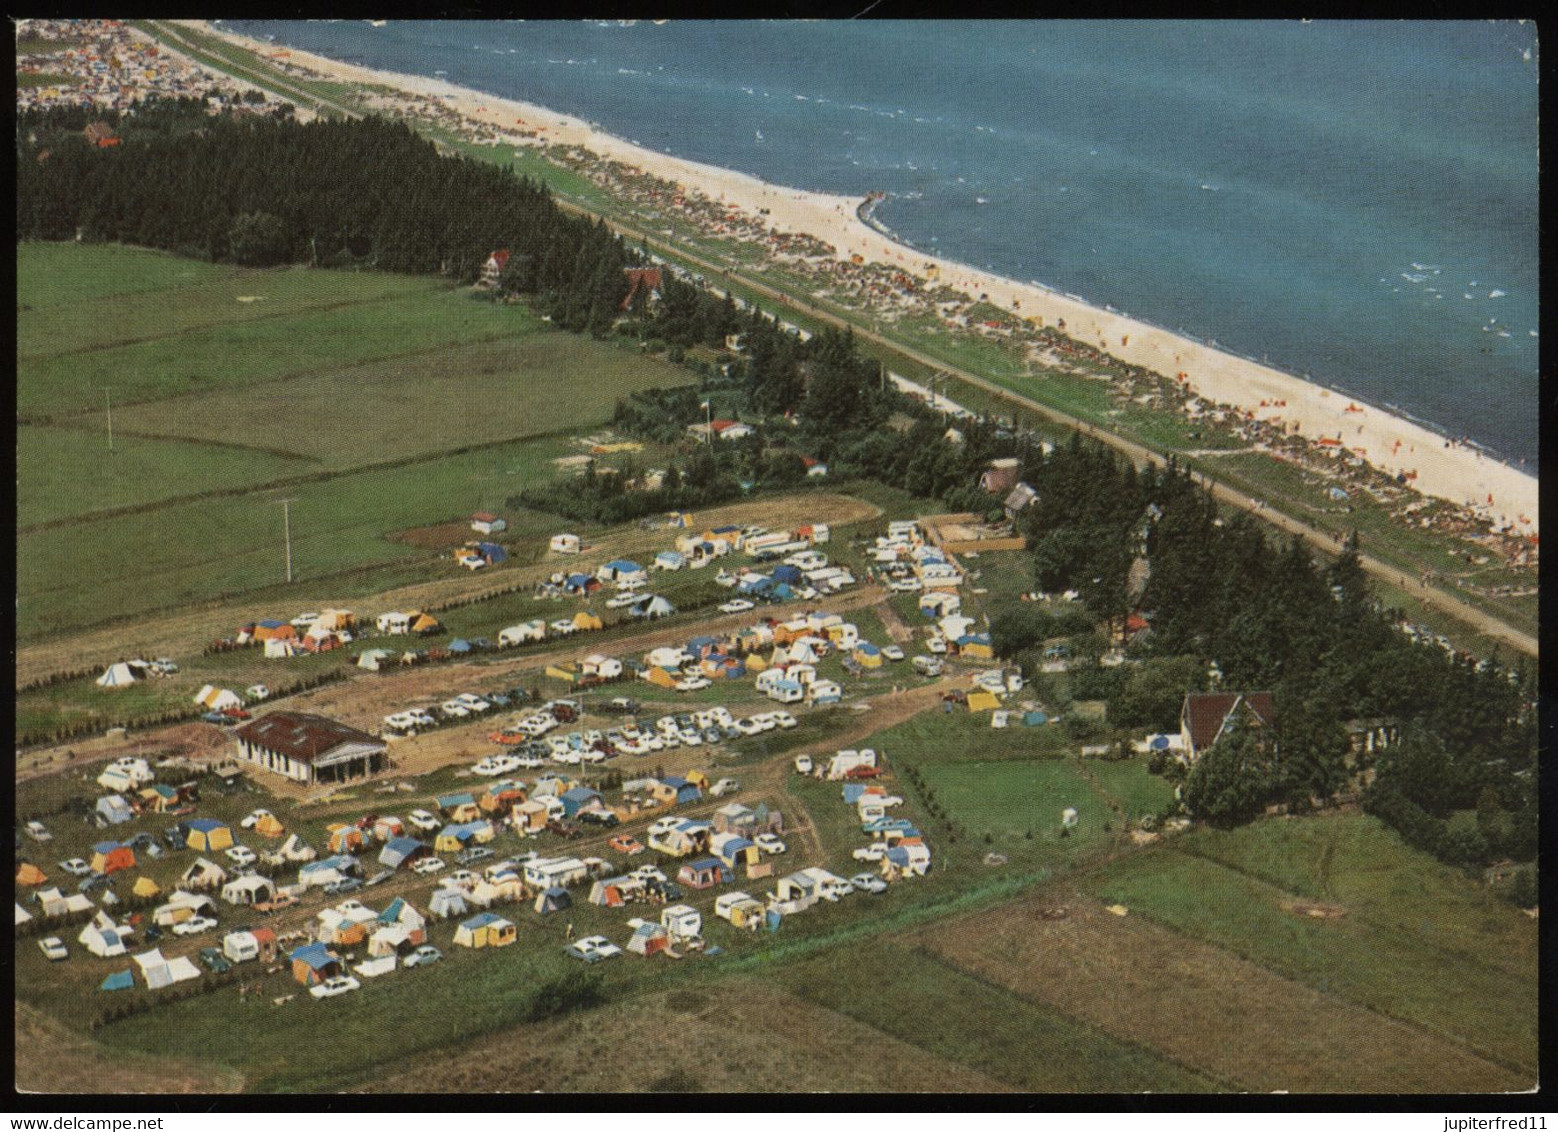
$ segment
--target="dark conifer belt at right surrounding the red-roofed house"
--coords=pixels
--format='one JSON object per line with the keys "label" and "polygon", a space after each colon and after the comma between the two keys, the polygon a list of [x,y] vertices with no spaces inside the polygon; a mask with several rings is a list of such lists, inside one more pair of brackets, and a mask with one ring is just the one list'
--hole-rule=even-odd
{"label": "dark conifer belt at right surrounding the red-roofed house", "polygon": [[[1332,564],[1273,540],[1246,515],[1221,515],[1173,464],[1136,470],[1073,439],[1024,458],[1039,494],[1020,523],[1045,589],[1077,589],[1108,620],[1134,612],[1150,632],[1136,666],[1077,674],[1122,727],[1176,727],[1209,666],[1235,691],[1270,690],[1274,727],[1232,729],[1186,782],[1192,813],[1234,824],[1271,802],[1306,803],[1351,777],[1345,722],[1393,721],[1365,805],[1444,860],[1530,856],[1536,822],[1535,673],[1424,648],[1376,601],[1355,536]],[[1016,656],[1053,617],[1010,612],[992,640]],[[1458,813],[1475,810],[1469,827]]]}

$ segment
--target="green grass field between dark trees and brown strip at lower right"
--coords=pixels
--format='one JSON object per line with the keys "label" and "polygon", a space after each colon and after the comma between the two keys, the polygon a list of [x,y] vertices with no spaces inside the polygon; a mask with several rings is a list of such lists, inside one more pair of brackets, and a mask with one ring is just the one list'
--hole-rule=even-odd
{"label": "green grass field between dark trees and brown strip at lower right", "polygon": [[[1089,877],[1103,900],[1281,975],[1536,1065],[1536,925],[1377,821],[1195,831]],[[1317,919],[1310,900],[1345,909]]]}

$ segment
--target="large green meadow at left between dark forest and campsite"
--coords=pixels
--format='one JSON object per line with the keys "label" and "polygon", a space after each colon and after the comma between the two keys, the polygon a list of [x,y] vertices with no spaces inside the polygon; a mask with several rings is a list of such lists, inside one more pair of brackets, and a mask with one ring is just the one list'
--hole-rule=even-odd
{"label": "large green meadow at left between dark forest and campsite", "polygon": [[294,576],[393,564],[386,534],[500,508],[692,380],[427,279],[75,244],[17,277],[22,640],[280,581],[284,495]]}

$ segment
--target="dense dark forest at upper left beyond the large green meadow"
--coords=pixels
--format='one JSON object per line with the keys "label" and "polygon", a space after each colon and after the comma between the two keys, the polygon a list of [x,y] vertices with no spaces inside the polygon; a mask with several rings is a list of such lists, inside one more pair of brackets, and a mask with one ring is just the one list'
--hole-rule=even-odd
{"label": "dense dark forest at upper left beyond the large green meadow", "polygon": [[[90,121],[118,145],[84,137]],[[474,282],[508,248],[506,282],[569,330],[609,330],[631,252],[545,188],[439,154],[383,118],[210,115],[199,98],[134,114],[17,115],[17,238],[162,248],[210,262],[366,266]]]}

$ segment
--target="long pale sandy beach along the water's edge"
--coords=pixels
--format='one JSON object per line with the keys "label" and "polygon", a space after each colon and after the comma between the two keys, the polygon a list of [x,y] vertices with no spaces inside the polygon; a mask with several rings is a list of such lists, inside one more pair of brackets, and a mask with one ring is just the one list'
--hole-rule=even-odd
{"label": "long pale sandy beach along the water's edge", "polygon": [[[986,297],[1038,325],[1063,329],[1072,338],[1097,346],[1120,361],[1176,377],[1206,402],[1281,424],[1312,442],[1324,442],[1338,450],[1338,455],[1360,456],[1391,475],[1404,473],[1419,492],[1474,508],[1516,533],[1538,531],[1535,475],[1483,456],[1474,447],[1446,441],[1388,410],[1349,399],[1301,377],[1058,291],[925,255],[862,221],[857,215],[860,198],[770,185],[743,173],[637,146],[595,129],[587,121],[541,106],[483,95],[435,78],[377,72],[296,48],[277,48],[232,36],[206,22],[189,23],[277,62],[302,65],[343,83],[382,84],[438,101],[488,125],[503,142],[516,146],[580,146],[675,182],[684,190],[700,192],[712,201],[735,206],[751,216],[767,210],[762,215],[763,227],[816,237],[832,244],[840,258],[858,255],[916,276],[935,274],[943,285],[963,290],[975,299]],[[1321,327],[1315,330],[1323,332]]]}

